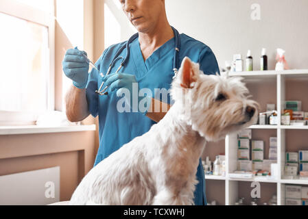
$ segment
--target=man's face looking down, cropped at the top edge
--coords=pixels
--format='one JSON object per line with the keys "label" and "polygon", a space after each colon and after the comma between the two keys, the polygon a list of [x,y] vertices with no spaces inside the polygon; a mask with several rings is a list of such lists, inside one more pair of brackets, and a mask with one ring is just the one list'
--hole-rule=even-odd
{"label": "man's face looking down, cropped at the top edge", "polygon": [[119,0],[130,23],[141,33],[155,27],[165,10],[165,0]]}

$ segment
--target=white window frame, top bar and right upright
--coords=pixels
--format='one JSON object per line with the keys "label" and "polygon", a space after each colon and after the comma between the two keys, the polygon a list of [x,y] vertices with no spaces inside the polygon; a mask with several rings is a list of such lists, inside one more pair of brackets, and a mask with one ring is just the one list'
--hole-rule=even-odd
{"label": "white window frame, top bar and right upright", "polygon": [[[47,110],[55,110],[55,1],[50,0],[50,12],[21,3],[15,0],[1,0],[0,12],[37,23],[48,28],[49,41],[49,73],[47,88]],[[29,115],[29,112],[25,113]],[[37,114],[37,112],[35,113]],[[35,115],[38,116],[38,115]],[[33,120],[33,116],[25,116]],[[27,120],[25,118],[25,120]],[[13,119],[13,118],[12,118]]]}

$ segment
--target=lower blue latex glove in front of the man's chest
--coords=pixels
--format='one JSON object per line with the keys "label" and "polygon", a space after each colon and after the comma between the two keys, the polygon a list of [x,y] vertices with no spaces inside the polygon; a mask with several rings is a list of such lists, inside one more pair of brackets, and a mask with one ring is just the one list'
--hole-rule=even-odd
{"label": "lower blue latex glove in front of the man's chest", "polygon": [[117,96],[124,94],[126,103],[132,112],[147,114],[152,96],[139,96],[139,86],[134,75],[114,73],[103,77],[103,81],[105,81],[104,86],[108,86],[110,92],[117,90]]}

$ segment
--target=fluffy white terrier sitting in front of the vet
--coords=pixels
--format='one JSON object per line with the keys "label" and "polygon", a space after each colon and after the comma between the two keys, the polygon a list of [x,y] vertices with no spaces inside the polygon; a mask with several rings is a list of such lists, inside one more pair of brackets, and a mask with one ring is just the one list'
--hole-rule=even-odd
{"label": "fluffy white terrier sitting in front of the vet", "polygon": [[193,205],[200,156],[217,141],[257,120],[241,78],[204,75],[185,57],[171,85],[175,103],[143,136],[97,164],[71,205]]}

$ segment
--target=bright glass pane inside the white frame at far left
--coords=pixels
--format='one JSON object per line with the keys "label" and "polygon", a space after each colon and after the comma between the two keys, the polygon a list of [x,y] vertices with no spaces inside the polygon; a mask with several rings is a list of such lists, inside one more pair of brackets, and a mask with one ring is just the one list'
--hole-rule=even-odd
{"label": "bright glass pane inside the white frame at far left", "polygon": [[0,28],[0,110],[47,110],[47,27],[0,13]]}

